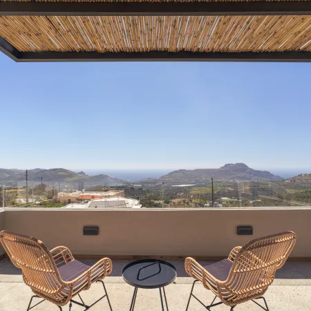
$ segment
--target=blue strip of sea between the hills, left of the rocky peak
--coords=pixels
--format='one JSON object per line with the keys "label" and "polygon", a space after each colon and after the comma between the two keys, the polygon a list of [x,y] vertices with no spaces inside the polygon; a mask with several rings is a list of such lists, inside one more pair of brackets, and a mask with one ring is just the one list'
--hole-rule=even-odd
{"label": "blue strip of sea between the hills, left of the rocky peak", "polygon": [[86,175],[100,175],[100,174],[105,174],[108,175],[109,177],[112,178],[119,178],[123,180],[142,180],[144,178],[159,178],[170,171],[174,171],[174,169],[167,169],[167,170],[162,170],[162,169],[153,169],[153,170],[142,170],[142,169],[136,169],[136,170],[90,170],[90,169],[82,169]]}

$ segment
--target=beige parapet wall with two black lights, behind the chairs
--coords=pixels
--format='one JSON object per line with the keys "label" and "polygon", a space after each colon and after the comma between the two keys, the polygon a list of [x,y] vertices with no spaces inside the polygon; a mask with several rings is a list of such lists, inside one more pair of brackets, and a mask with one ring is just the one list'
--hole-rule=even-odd
{"label": "beige parapet wall with two black lights, behind the chairs", "polygon": [[[1,213],[0,215],[2,215]],[[35,236],[49,248],[64,245],[80,255],[227,256],[252,238],[292,230],[292,257],[311,258],[311,209],[5,209],[5,228]],[[3,228],[3,216],[0,227]],[[98,226],[98,236],[83,227]],[[253,236],[238,236],[252,225]]]}

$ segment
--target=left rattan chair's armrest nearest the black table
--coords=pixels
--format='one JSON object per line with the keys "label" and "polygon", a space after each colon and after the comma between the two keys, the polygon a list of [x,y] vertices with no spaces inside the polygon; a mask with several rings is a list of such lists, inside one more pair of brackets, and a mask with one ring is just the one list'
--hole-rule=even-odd
{"label": "left rattan chair's armrest nearest the black table", "polygon": [[82,283],[87,281],[88,285],[86,289],[88,289],[90,288],[91,283],[93,283],[93,281],[97,281],[97,279],[104,279],[105,276],[111,274],[112,269],[113,269],[113,265],[112,265],[111,259],[105,257],[105,258],[100,259],[100,261],[97,261],[95,265],[90,267],[88,270],[86,270],[86,272],[79,275],[73,281],[64,282],[64,283],[66,283],[67,285],[74,286],[75,283],[79,283],[81,285],[80,283],[81,281]]}

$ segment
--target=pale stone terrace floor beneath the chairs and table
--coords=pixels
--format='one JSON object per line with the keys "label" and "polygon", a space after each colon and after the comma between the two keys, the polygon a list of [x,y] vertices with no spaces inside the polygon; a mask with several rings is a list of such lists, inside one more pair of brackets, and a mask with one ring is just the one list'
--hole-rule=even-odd
{"label": "pale stone terrace floor beneath the chairs and table", "polygon": [[[95,261],[84,261],[88,265]],[[128,261],[113,261],[113,273],[106,277],[106,289],[111,300],[113,311],[129,310],[133,288],[124,283],[122,279],[122,268],[129,263]],[[178,278],[174,283],[167,286],[167,301],[169,310],[186,309],[187,299],[191,290],[192,279],[185,273],[182,261],[171,262],[176,266]],[[196,285],[194,293],[202,301],[209,303],[214,298],[213,294],[202,287]],[[82,298],[88,304],[97,300],[103,295],[102,285],[93,284],[90,290],[82,292]],[[30,288],[23,284],[21,270],[17,269],[10,261],[3,260],[0,262],[0,310],[26,310],[32,292]],[[286,263],[276,275],[274,283],[270,286],[265,294],[270,311],[310,311],[311,310],[311,263]],[[76,299],[78,300],[78,299]],[[39,301],[39,299],[37,300]],[[52,303],[44,301],[34,311],[52,311],[58,310]],[[68,311],[68,305],[63,307]],[[83,310],[79,305],[73,305],[73,311]],[[103,299],[90,310],[109,310],[106,299]],[[160,296],[158,290],[138,290],[135,310],[161,310]],[[191,300],[189,311],[203,311],[205,308],[195,299]],[[229,307],[218,305],[213,311],[229,311]],[[252,302],[238,305],[234,310],[262,310]]]}

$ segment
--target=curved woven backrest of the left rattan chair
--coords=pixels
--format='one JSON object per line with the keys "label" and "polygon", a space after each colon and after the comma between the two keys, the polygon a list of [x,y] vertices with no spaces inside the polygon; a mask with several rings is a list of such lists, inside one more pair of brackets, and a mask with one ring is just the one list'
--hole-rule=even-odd
{"label": "curved woven backrest of the left rattan chair", "polygon": [[0,241],[12,263],[22,270],[25,283],[35,292],[55,299],[63,282],[46,245],[37,238],[7,231],[0,232]]}

